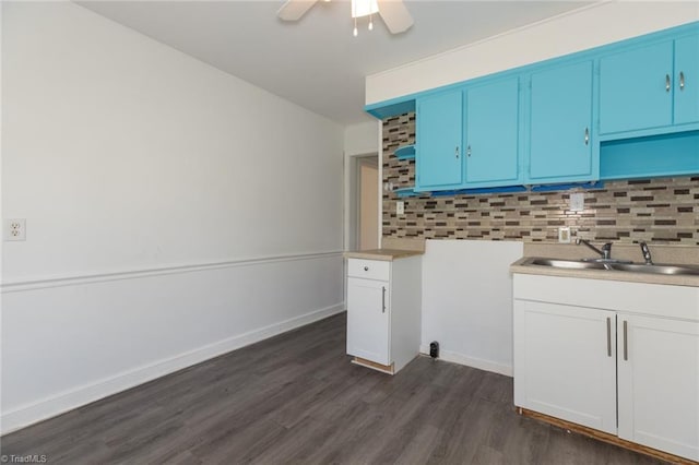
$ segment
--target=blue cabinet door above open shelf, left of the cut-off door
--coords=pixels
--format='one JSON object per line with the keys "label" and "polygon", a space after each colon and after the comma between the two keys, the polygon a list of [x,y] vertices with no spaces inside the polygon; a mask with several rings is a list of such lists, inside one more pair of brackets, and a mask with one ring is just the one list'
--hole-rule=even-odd
{"label": "blue cabinet door above open shelf, left of the cut-off door", "polygon": [[600,133],[672,124],[673,41],[600,60]]}

